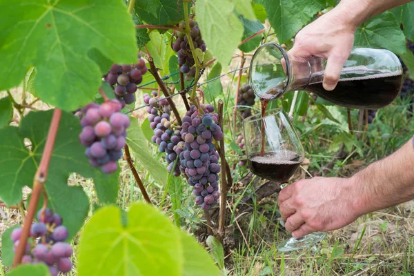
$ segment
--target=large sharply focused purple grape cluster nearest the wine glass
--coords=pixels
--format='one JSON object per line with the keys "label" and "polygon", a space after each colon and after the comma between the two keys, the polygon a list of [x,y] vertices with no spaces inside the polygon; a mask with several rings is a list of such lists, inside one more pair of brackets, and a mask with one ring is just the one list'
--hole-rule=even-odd
{"label": "large sharply focused purple grape cluster nearest the wine glass", "polygon": [[201,104],[200,108],[204,115],[199,115],[196,106],[191,106],[183,117],[181,138],[184,145],[177,146],[175,152],[179,155],[181,172],[186,173],[188,183],[194,186],[196,204],[208,210],[219,198],[219,153],[213,139],[223,138],[223,132],[217,124],[218,115],[213,113],[214,106]]}

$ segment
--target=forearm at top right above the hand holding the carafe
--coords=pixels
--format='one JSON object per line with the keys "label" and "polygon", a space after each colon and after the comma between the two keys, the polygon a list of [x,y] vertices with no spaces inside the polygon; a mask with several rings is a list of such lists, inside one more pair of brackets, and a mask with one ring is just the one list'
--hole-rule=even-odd
{"label": "forearm at top right above the hand holding the carafe", "polygon": [[342,0],[331,11],[338,19],[357,28],[367,19],[413,0]]}

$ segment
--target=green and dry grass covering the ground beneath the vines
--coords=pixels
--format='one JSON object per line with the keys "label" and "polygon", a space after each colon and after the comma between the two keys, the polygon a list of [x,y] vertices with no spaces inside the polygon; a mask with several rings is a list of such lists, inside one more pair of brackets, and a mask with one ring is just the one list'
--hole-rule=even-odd
{"label": "green and dry grass covering the ground beneath the vines", "polygon": [[[231,101],[228,103],[229,108],[232,106]],[[414,127],[414,121],[408,117],[407,103],[400,99],[377,112],[375,121],[368,126],[364,141],[362,138],[357,139],[355,133],[347,134],[345,108],[328,107],[328,110],[341,124],[326,119],[316,106],[309,107],[304,120],[303,117],[295,117],[295,127],[299,135],[302,135],[302,143],[309,160],[309,164],[304,166],[307,172],[298,172],[295,175],[297,179],[309,177],[319,171],[335,155],[341,143],[345,143],[345,150],[349,155],[346,159],[337,160],[326,176],[353,175],[357,170],[402,146],[411,137],[411,129]],[[141,117],[143,114],[140,112],[136,116]],[[353,126],[357,126],[357,117],[357,110],[353,110]],[[239,126],[235,129],[239,129]],[[226,133],[227,142],[234,141],[233,137],[235,133],[230,133],[229,130]],[[157,155],[155,147],[151,146],[150,150],[164,162],[161,155]],[[234,162],[237,163],[239,156],[231,152],[230,146],[226,150],[230,166]],[[351,156],[352,152],[356,155]],[[135,185],[135,179],[126,161],[122,160],[120,164],[122,171],[117,204],[128,210],[130,204],[144,199]],[[204,226],[206,221],[199,206],[194,204],[190,186],[181,178],[168,181],[166,187],[160,186],[139,165],[139,160],[135,160],[135,164],[155,206],[183,230],[197,233],[201,244],[206,246],[206,235],[199,230],[199,226]],[[248,183],[241,181],[247,172],[246,168],[238,165],[232,170],[235,184],[228,198],[231,215],[224,244],[224,275],[414,274],[414,201],[359,217],[353,224],[331,231],[322,242],[311,248],[282,254],[277,251],[277,244],[290,237],[290,233],[286,233],[284,228],[279,226],[277,195],[255,202],[247,213],[237,213],[237,204],[244,196],[252,195],[253,188],[259,182],[257,178]],[[97,202],[92,182],[74,174],[70,176],[70,185],[82,186],[86,191],[91,201],[89,215],[92,215],[93,204]],[[175,193],[178,194],[171,193],[168,187],[175,187]],[[180,203],[174,208],[172,195],[177,195],[175,200],[179,199]],[[17,210],[0,209],[0,234],[6,228],[21,223],[22,217]],[[78,239],[72,242],[75,252],[77,242]],[[207,246],[206,249],[208,250]],[[72,261],[75,270],[70,275],[76,275],[76,255],[72,257]],[[8,268],[3,266],[0,275],[7,271]]]}

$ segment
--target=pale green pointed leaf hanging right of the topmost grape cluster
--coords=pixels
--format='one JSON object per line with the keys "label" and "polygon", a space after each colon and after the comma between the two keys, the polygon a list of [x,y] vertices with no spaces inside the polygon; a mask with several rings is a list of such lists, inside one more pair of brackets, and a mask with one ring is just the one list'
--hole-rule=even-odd
{"label": "pale green pointed leaf hanging right of the topmost grape cluster", "polygon": [[243,36],[243,24],[233,12],[235,3],[230,0],[198,0],[198,25],[206,45],[219,63],[230,63]]}

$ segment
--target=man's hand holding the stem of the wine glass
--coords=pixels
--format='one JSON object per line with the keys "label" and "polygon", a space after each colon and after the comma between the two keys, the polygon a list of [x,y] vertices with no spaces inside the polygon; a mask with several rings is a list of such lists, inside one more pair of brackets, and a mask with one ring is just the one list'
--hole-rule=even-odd
{"label": "man's hand holding the stem of the wine glass", "polygon": [[278,205],[285,228],[293,237],[342,228],[359,217],[351,179],[314,177],[288,185]]}

